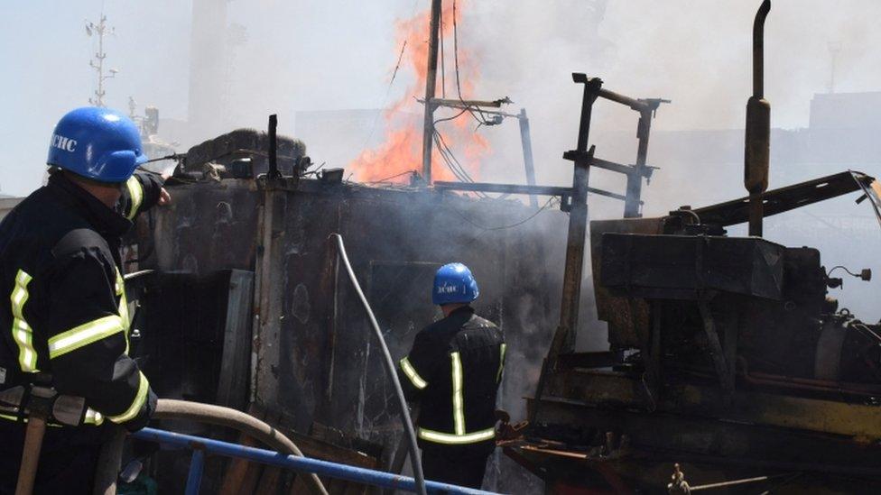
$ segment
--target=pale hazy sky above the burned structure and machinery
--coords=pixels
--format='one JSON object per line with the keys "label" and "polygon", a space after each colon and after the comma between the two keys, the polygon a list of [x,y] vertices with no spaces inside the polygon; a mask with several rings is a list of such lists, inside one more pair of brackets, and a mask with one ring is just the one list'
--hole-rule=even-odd
{"label": "pale hazy sky above the burned structure and machinery", "polygon": [[[449,2],[449,0],[448,0]],[[749,93],[749,32],[759,2],[744,0],[459,0],[459,41],[473,54],[476,97],[510,96],[529,108],[540,178],[565,180],[561,151],[577,132],[579,89],[570,73],[598,75],[634,96],[663,96],[654,129],[741,127]],[[395,21],[428,0],[229,0],[237,24],[230,49],[230,125],[264,126],[278,113],[282,131],[297,110],[376,108],[406,93],[412,75],[388,81],[399,47]],[[0,4],[3,160],[0,190],[23,195],[39,186],[51,128],[86,105],[95,87],[88,60],[96,39],[83,27],[103,12],[116,27],[107,39],[107,104],[127,111],[128,97],[187,117],[191,3],[180,0],[48,0]],[[826,91],[830,43],[838,47],[839,91],[881,89],[881,30],[874,0],[774,0],[766,34],[766,93],[775,127],[807,124],[811,96]],[[236,31],[237,30],[237,31]],[[244,33],[244,35],[242,35]],[[632,127],[632,115],[598,110],[606,130]],[[488,131],[487,131],[488,133]],[[505,170],[510,129],[488,133]],[[208,137],[208,136],[205,136]],[[189,147],[193,142],[181,143]],[[344,164],[343,164],[344,165]],[[504,175],[504,173],[502,174]]]}

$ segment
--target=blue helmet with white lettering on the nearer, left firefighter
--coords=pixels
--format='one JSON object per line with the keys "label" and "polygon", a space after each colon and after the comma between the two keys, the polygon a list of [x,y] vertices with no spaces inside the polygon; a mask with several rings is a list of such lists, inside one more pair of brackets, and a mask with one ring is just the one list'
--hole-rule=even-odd
{"label": "blue helmet with white lettering on the nearer, left firefighter", "polygon": [[99,182],[125,182],[146,160],[132,119],[109,108],[85,106],[61,117],[46,163]]}

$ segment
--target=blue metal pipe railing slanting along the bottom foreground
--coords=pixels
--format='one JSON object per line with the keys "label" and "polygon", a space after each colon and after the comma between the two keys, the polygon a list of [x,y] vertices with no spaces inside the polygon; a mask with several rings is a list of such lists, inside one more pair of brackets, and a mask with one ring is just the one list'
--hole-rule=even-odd
{"label": "blue metal pipe railing slanting along the bottom foreground", "polygon": [[[297,457],[285,455],[271,450],[247,447],[245,445],[230,444],[210,438],[193,435],[181,435],[170,431],[156,428],[144,428],[134,434],[134,438],[156,442],[164,445],[193,449],[193,463],[197,462],[196,455],[204,451],[207,454],[220,454],[227,457],[247,459],[256,463],[270,464],[297,472],[314,472],[320,476],[328,476],[338,480],[354,481],[368,485],[392,490],[404,490],[416,492],[416,481],[408,476],[392,474],[390,472],[375,471],[372,469],[349,466],[347,464],[329,463],[310,457]],[[199,460],[199,463],[201,461]],[[201,468],[199,468],[200,470]],[[190,476],[193,467],[190,465]],[[189,481],[188,481],[189,483]],[[453,495],[491,495],[490,491],[475,490],[437,481],[425,481],[425,488],[429,493],[450,493]]]}

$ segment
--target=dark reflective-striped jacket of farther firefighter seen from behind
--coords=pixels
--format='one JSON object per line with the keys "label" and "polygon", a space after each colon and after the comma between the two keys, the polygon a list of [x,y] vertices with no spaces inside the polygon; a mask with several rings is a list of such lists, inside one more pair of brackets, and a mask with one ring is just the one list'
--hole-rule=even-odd
{"label": "dark reflective-striped jacket of farther firefighter seen from behind", "polygon": [[407,399],[420,405],[420,444],[468,445],[495,438],[504,364],[502,331],[472,307],[460,307],[416,334],[398,373]]}

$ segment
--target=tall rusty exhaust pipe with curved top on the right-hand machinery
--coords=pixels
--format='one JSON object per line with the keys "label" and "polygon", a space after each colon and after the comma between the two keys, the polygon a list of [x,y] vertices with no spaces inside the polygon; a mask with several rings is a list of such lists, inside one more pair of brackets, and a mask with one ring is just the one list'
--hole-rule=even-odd
{"label": "tall rusty exhaust pipe with curved top on the right-hand machinery", "polygon": [[765,18],[771,0],[765,0],[753,23],[753,96],[747,101],[747,136],[744,149],[744,186],[749,192],[749,235],[762,236],[771,158],[771,104],[765,100]]}

